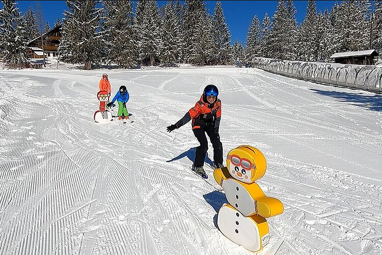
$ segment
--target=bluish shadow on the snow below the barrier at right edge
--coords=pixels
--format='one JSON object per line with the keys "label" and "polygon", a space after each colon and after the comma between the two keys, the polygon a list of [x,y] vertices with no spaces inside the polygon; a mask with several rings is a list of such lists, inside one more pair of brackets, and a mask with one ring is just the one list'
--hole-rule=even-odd
{"label": "bluish shadow on the snow below the barrier at right edge", "polygon": [[351,102],[352,105],[366,108],[372,111],[382,111],[382,96],[367,95],[363,93],[347,93],[339,91],[325,91],[310,89],[315,93],[340,99],[339,101]]}

